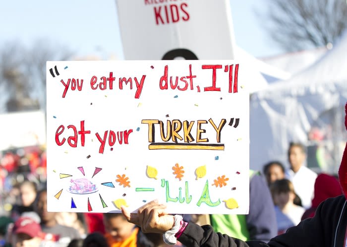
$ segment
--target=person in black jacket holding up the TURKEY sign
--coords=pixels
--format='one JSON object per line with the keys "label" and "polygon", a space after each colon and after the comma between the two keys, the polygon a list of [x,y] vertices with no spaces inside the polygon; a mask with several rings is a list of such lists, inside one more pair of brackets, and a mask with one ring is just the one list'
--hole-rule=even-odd
{"label": "person in black jacket holding up the TURKEY sign", "polygon": [[[347,104],[345,110],[347,129]],[[141,206],[134,214],[122,207],[122,213],[145,233],[163,233],[164,240],[169,244],[178,240],[189,247],[343,247],[347,244],[347,145],[339,169],[339,179],[344,195],[327,199],[318,206],[313,218],[301,221],[267,244],[261,241],[243,242],[216,233],[211,226],[184,222],[179,215],[167,214],[166,206],[156,200]]]}

